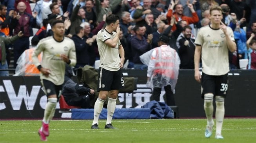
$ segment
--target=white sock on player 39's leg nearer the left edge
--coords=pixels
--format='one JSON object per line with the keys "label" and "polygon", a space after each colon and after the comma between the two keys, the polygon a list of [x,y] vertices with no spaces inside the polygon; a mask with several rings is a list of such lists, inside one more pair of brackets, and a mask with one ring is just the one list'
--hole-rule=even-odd
{"label": "white sock on player 39's leg nearer the left edge", "polygon": [[209,125],[209,126],[214,125],[214,122],[213,122],[213,119],[212,119],[212,114],[213,114],[212,101],[213,101],[213,94],[212,93],[207,93],[207,94],[204,95],[203,108],[205,110],[205,115],[206,115],[206,118],[207,118],[207,125]]}

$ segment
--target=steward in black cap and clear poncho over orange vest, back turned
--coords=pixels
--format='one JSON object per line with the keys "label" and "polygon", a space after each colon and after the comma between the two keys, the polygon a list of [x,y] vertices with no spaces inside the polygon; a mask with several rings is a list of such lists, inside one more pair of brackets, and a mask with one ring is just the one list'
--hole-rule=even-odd
{"label": "steward in black cap and clear poncho over orange vest, back turned", "polygon": [[160,101],[162,87],[165,89],[165,103],[175,105],[174,90],[178,79],[180,58],[178,53],[167,45],[169,38],[161,35],[158,47],[154,48],[147,69],[147,86],[153,88],[151,100]]}

